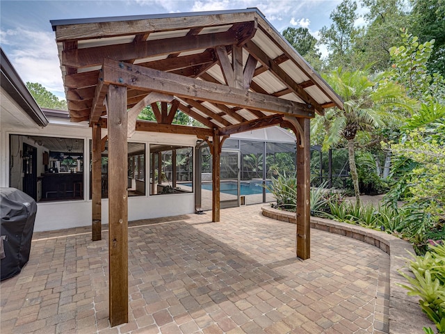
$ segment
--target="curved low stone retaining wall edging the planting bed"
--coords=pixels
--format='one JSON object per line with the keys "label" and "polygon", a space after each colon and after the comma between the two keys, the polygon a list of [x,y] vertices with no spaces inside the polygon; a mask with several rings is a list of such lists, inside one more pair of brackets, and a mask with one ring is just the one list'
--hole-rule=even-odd
{"label": "curved low stone retaining wall edging the planting bed", "polygon": [[[291,212],[284,212],[272,207],[262,207],[261,210],[263,215],[269,218],[296,223],[296,214]],[[389,255],[389,333],[421,334],[423,333],[423,326],[429,326],[433,330],[436,329],[435,324],[421,311],[419,298],[408,296],[406,289],[396,285],[396,283],[407,284],[398,270],[410,273],[403,267],[405,265],[404,258],[410,257],[407,251],[414,254],[411,244],[385,232],[348,223],[339,223],[325,218],[311,217],[311,228],[366,242],[366,244],[378,247]]]}

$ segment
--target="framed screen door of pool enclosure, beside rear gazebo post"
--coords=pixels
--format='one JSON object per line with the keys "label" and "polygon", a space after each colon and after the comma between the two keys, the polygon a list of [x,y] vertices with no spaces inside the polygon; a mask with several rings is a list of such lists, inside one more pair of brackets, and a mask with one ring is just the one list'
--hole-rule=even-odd
{"label": "framed screen door of pool enclosure, beside rear gazebo post", "polygon": [[240,205],[240,152],[223,150],[220,156],[220,208]]}

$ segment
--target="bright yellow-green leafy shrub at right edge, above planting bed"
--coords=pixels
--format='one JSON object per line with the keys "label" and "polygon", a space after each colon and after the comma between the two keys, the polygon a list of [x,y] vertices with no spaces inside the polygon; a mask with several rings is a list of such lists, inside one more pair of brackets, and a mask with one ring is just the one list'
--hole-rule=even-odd
{"label": "bright yellow-green leafy shrub at right edge, above planting bed", "polygon": [[394,188],[403,189],[403,200],[421,205],[435,221],[441,216],[444,219],[445,106],[437,102],[422,104],[402,129],[402,140],[390,145],[399,162],[394,165],[398,170],[393,173],[399,175]]}

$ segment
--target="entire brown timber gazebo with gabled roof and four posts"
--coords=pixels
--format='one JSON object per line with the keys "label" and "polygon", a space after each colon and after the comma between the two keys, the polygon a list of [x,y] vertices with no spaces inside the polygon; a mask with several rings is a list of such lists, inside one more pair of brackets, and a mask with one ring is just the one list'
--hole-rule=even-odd
{"label": "entire brown timber gazebo with gabled roof and four posts", "polygon": [[[281,125],[297,136],[296,253],[309,258],[309,121],[343,102],[256,8],[51,21],[72,122],[92,128],[92,239],[101,236],[101,152],[108,139],[110,321],[128,321],[127,138],[192,134],[213,156],[231,134]],[[156,102],[161,102],[161,108]],[[157,122],[137,120],[152,105]],[[177,110],[205,127],[172,125]],[[107,129],[101,138],[101,128]]]}

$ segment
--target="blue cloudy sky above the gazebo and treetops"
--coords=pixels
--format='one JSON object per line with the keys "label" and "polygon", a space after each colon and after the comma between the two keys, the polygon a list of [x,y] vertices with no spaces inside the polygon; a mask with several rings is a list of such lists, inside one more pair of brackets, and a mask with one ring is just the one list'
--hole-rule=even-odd
{"label": "blue cloudy sky above the gazebo and treetops", "polygon": [[[0,45],[22,81],[38,82],[65,99],[62,72],[50,20],[207,10],[258,8],[280,33],[306,27],[315,37],[330,26],[340,0],[0,0]],[[357,22],[360,24],[360,22]],[[322,54],[327,51],[321,47]]]}

